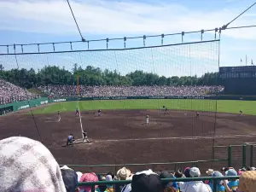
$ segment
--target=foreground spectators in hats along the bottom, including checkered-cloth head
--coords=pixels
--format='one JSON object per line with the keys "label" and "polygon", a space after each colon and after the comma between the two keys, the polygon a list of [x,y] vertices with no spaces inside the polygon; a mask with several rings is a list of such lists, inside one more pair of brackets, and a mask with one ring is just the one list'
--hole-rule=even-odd
{"label": "foreground spectators in hats along the bottom, including checkered-cloth head", "polygon": [[[146,170],[132,173],[123,167],[116,174],[108,172],[97,175],[94,172],[75,172],[67,166],[59,166],[54,156],[42,143],[26,137],[9,137],[0,141],[0,191],[5,192],[91,192],[89,186],[79,186],[80,182],[131,180],[128,184],[96,185],[96,192],[212,192],[212,181],[165,182],[162,178],[201,177],[197,167],[187,167],[183,172],[153,172]],[[256,175],[255,167],[242,168],[238,172],[233,167],[220,171],[207,170],[211,177],[237,176],[238,179],[217,180],[218,192],[253,192],[244,185],[243,177]],[[255,176],[254,176],[255,177]],[[251,183],[252,184],[252,183]],[[245,186],[245,187],[244,187]]]}

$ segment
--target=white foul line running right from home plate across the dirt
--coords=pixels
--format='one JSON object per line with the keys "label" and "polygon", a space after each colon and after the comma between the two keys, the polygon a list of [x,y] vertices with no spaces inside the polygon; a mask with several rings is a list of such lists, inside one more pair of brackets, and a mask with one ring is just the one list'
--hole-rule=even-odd
{"label": "white foul line running right from home plate across the dirt", "polygon": [[[226,135],[226,136],[215,136],[214,138],[236,138],[236,137],[256,137],[256,134],[251,135]],[[104,142],[129,142],[129,141],[150,141],[150,140],[201,140],[201,139],[212,139],[213,136],[195,136],[195,137],[153,137],[153,138],[128,138],[128,139],[106,139],[106,140],[93,140],[96,143]]]}

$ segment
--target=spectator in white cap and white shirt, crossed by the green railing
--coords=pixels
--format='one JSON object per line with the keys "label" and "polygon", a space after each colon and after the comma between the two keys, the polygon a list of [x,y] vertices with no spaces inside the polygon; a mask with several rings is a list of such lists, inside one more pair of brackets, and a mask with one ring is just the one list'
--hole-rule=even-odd
{"label": "spectator in white cap and white shirt, crossed by the green railing", "polygon": [[[191,167],[189,171],[190,177],[201,177],[201,172],[197,167]],[[212,192],[212,189],[202,181],[179,182],[181,192]]]}

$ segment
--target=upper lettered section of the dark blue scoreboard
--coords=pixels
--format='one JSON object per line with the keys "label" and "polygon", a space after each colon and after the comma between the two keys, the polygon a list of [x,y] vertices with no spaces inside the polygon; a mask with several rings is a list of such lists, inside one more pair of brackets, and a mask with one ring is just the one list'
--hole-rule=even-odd
{"label": "upper lettered section of the dark blue scoreboard", "polygon": [[256,66],[219,67],[221,79],[256,78]]}

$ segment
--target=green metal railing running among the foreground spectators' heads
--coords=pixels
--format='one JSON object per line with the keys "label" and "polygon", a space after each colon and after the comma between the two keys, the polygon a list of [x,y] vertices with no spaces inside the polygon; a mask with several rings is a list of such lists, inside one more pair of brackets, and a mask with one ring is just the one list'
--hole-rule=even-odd
{"label": "green metal railing running among the foreground spectators' heads", "polygon": [[[189,177],[189,178],[164,178],[161,179],[163,183],[168,182],[191,182],[191,181],[212,181],[213,184],[213,190],[212,192],[217,192],[217,180],[225,180],[225,179],[239,179],[238,176],[236,177]],[[85,182],[85,183],[79,183],[79,186],[91,186],[91,191],[95,191],[96,185],[115,185],[115,184],[129,184],[131,183],[131,180],[125,180],[125,181],[101,181],[101,182]]]}

